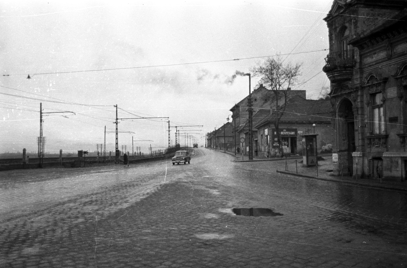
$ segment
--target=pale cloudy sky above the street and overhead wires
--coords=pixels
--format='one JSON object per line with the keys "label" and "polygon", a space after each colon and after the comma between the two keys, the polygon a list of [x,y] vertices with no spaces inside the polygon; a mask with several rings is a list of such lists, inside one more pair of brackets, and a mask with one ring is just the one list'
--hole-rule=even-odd
{"label": "pale cloudy sky above the street and overhead wires", "polygon": [[[293,89],[317,99],[329,86],[322,72],[328,53],[322,19],[331,5],[0,1],[0,152],[37,152],[40,102],[46,152],[96,150],[105,126],[115,129],[113,105],[118,118],[203,125],[193,136],[204,145],[205,133],[226,123],[229,109],[249,93],[247,76],[232,75],[249,72],[264,56],[302,63],[300,85]],[[252,78],[252,89],[257,81]],[[59,111],[75,114],[54,113]],[[119,131],[128,133],[119,133],[119,149],[131,151],[132,139],[144,153],[150,144],[168,146],[166,121],[121,120]],[[107,132],[107,151],[114,151],[114,142]]]}

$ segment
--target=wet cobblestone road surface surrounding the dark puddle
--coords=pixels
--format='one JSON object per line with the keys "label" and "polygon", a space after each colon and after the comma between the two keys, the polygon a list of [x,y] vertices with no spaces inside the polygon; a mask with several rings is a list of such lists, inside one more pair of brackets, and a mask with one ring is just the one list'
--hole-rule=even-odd
{"label": "wet cobblestone road surface surrounding the dark puddle", "polygon": [[0,172],[0,267],[406,266],[405,193],[232,159]]}

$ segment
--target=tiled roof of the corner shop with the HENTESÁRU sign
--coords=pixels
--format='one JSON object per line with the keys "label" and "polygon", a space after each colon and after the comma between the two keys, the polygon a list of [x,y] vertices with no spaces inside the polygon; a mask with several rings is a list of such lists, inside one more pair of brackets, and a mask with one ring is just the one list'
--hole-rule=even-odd
{"label": "tiled roof of the corner shop with the HENTES\u00c1RU sign", "polygon": [[[331,104],[329,100],[306,100],[295,96],[287,102],[280,122],[326,122],[331,119]],[[274,122],[275,113],[253,126],[255,128],[269,122]]]}

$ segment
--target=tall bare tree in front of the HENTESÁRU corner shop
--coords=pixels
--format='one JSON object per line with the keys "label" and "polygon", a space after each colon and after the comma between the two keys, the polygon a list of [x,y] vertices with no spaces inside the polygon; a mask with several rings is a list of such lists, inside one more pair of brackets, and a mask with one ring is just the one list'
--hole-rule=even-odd
{"label": "tall bare tree in front of the HENTES\u00c1RU corner shop", "polygon": [[283,150],[278,124],[284,114],[287,100],[289,100],[290,95],[292,96],[291,91],[287,89],[298,82],[300,68],[301,64],[298,63],[295,65],[287,63],[284,65],[281,57],[278,56],[267,58],[264,62],[257,63],[257,65],[250,70],[253,76],[260,77],[259,83],[266,85],[274,93],[276,98],[276,107],[272,111],[272,115],[274,115],[274,127],[276,128],[281,155],[283,155]]}

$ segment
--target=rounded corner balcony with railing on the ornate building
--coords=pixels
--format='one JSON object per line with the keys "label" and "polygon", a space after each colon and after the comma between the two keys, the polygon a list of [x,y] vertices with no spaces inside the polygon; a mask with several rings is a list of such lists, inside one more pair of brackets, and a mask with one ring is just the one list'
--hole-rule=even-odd
{"label": "rounded corner balcony with railing on the ornate building", "polygon": [[331,83],[350,81],[353,68],[356,65],[353,50],[344,50],[329,53],[325,58],[322,70],[326,73]]}

